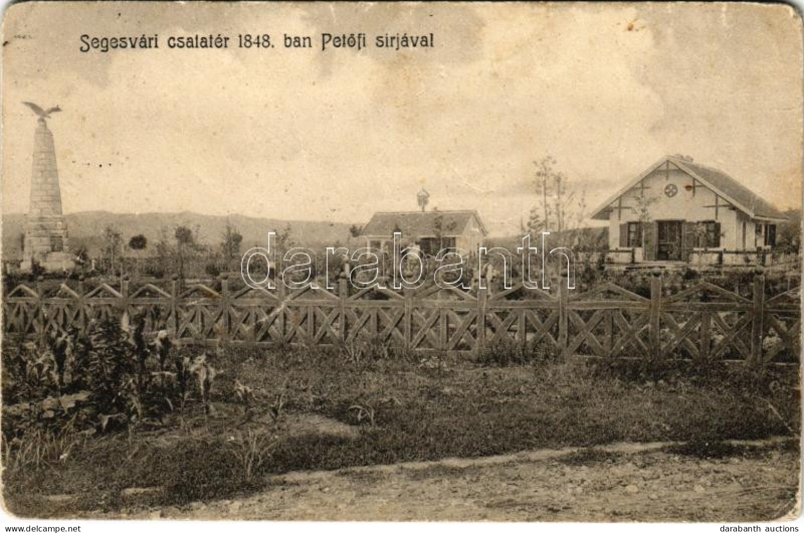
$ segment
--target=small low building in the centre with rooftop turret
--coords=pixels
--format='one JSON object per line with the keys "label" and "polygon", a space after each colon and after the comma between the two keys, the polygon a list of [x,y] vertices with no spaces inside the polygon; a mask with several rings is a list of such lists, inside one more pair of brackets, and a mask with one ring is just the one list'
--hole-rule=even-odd
{"label": "small low building in the centre with rooftop turret", "polygon": [[445,248],[476,254],[488,234],[477,211],[403,211],[374,213],[360,235],[367,247],[390,251],[396,232],[403,247],[414,244],[429,255]]}

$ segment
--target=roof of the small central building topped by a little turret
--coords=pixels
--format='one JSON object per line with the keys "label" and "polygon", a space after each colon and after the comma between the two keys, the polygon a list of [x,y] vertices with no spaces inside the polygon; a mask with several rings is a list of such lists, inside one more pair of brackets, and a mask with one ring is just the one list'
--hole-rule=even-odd
{"label": "roof of the small central building topped by a little turret", "polygon": [[434,236],[437,217],[441,217],[442,233],[445,237],[461,235],[466,225],[474,218],[483,235],[488,234],[486,226],[477,211],[401,211],[396,213],[374,213],[368,224],[360,232],[363,237],[391,236],[395,231],[403,235],[427,237]]}

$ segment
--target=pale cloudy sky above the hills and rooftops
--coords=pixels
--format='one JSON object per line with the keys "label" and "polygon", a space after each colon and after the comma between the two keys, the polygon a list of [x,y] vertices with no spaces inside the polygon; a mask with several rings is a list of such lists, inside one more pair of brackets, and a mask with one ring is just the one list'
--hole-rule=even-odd
{"label": "pale cloudy sky above the hills and rooftops", "polygon": [[[322,32],[435,35],[327,50]],[[264,33],[276,48],[170,50],[170,35]],[[80,35],[158,34],[81,53]],[[281,45],[311,35],[312,50]],[[780,5],[141,5],[6,11],[2,209],[25,212],[35,118],[68,213],[195,211],[365,222],[478,209],[514,233],[552,155],[589,207],[666,154],[801,203],[802,35]],[[371,43],[370,43],[371,44]]]}

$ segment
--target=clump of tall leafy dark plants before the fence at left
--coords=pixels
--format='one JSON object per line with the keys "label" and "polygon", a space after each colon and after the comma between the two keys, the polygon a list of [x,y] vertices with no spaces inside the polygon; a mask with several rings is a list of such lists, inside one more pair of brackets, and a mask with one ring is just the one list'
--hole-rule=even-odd
{"label": "clump of tall leafy dark plants before the fence at left", "polygon": [[3,398],[6,406],[17,403],[3,413],[6,441],[32,426],[107,432],[162,425],[171,411],[183,414],[196,392],[208,411],[216,371],[207,357],[191,360],[159,333],[149,343],[142,316],[123,322],[101,320],[88,335],[76,329],[53,333],[43,346],[15,344],[11,353],[4,345]]}

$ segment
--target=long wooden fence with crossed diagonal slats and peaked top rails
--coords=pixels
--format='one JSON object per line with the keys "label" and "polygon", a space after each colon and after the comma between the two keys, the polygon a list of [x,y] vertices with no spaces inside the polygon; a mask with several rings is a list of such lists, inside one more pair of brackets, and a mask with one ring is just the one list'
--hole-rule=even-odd
{"label": "long wooden fence with crossed diagonal slats and peaked top rails", "polygon": [[552,285],[541,290],[519,283],[494,292],[435,284],[357,290],[342,278],[334,290],[268,291],[225,276],[184,284],[39,281],[4,292],[3,331],[35,337],[86,330],[95,320],[127,312],[146,321],[146,333],[164,328],[180,343],[339,345],[372,339],[422,351],[473,352],[507,343],[597,357],[798,361],[799,288],[768,295],[760,272],[753,287],[740,291],[744,295],[706,281],[671,293],[658,272],[650,276],[649,295],[613,283],[580,294],[565,280]]}

